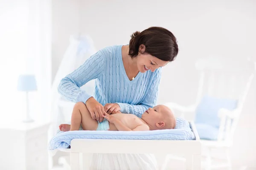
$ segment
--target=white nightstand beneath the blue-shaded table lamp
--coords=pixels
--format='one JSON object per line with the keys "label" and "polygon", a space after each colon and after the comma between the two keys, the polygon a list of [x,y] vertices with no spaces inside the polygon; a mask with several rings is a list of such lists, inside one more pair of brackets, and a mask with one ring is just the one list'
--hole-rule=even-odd
{"label": "white nightstand beneath the blue-shaded table lamp", "polygon": [[0,170],[48,170],[50,124],[4,124],[0,124]]}

